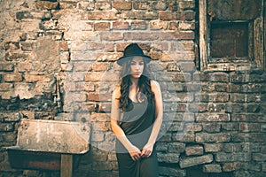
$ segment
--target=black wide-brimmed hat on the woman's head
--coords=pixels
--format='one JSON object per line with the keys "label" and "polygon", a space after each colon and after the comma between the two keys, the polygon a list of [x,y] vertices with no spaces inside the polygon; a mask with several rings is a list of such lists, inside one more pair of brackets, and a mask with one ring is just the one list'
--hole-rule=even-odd
{"label": "black wide-brimmed hat on the woman's head", "polygon": [[144,54],[143,50],[137,45],[137,43],[130,43],[124,50],[124,56],[117,60],[117,64],[123,65],[127,59],[137,56],[142,57],[146,63],[149,63],[152,60],[150,56]]}

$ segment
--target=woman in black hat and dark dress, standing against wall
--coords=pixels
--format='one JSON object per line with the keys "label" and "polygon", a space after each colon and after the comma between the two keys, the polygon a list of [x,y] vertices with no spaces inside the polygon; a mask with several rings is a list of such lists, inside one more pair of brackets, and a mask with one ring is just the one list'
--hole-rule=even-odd
{"label": "woman in black hat and dark dress, standing against wall", "polygon": [[113,90],[111,126],[121,177],[156,177],[155,142],[162,123],[163,104],[158,82],[150,79],[145,56],[137,43],[124,50],[121,83]]}

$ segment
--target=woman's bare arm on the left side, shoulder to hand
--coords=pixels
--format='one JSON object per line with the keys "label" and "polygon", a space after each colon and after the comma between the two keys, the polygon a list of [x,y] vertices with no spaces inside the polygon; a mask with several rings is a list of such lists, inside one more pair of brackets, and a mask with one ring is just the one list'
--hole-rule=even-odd
{"label": "woman's bare arm on the left side, shoulder to hand", "polygon": [[125,135],[124,131],[118,125],[118,120],[121,116],[121,111],[119,108],[119,98],[120,97],[120,89],[113,90],[112,96],[112,109],[111,109],[111,127],[113,130],[113,134],[116,135],[117,139],[122,143],[122,145],[129,151],[129,155],[133,160],[138,160],[141,158],[141,151],[134,146],[129,139]]}

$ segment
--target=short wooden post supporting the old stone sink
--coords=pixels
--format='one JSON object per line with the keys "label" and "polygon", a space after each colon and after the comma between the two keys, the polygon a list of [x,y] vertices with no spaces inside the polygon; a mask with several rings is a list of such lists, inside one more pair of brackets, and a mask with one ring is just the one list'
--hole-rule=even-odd
{"label": "short wooden post supporting the old stone sink", "polygon": [[61,154],[60,177],[72,177],[73,155]]}

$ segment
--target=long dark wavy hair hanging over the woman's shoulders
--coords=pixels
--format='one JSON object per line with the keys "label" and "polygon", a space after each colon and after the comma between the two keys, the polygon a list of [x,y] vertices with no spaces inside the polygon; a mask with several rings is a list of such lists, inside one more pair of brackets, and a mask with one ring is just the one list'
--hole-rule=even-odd
{"label": "long dark wavy hair hanging over the woman's shoulders", "polygon": [[[130,80],[130,63],[132,58],[125,61],[121,68],[120,78],[120,91],[121,96],[119,97],[120,108],[122,111],[130,111],[133,107],[132,100],[129,99],[129,87],[132,85]],[[146,65],[144,60],[144,71],[140,78],[138,79],[137,88],[137,101],[144,102],[145,100],[149,102],[154,101],[154,94],[151,89],[151,81],[153,80],[152,75]]]}

